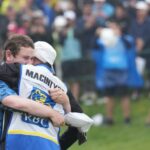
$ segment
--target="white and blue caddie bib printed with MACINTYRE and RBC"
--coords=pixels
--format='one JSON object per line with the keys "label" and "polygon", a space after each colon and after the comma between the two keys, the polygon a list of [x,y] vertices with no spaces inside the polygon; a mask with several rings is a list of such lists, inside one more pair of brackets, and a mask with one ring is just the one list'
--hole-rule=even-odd
{"label": "white and blue caddie bib printed with MACINTYRE and RBC", "polygon": [[[49,88],[61,88],[65,85],[55,77],[46,65],[22,65],[19,82],[19,95],[30,98],[63,113],[62,105],[55,103],[48,95]],[[60,149],[59,128],[48,119],[34,117],[26,113],[13,113],[6,139],[7,150],[19,149]],[[29,143],[26,145],[26,143]],[[16,147],[17,145],[17,147]]]}

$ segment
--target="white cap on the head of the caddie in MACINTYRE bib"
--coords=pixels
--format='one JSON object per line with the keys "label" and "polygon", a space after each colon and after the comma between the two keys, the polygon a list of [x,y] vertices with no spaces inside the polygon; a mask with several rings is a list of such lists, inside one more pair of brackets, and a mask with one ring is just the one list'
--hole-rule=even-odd
{"label": "white cap on the head of the caddie in MACINTYRE bib", "polygon": [[38,58],[43,63],[54,64],[56,58],[55,49],[44,41],[38,41],[34,43],[34,57]]}

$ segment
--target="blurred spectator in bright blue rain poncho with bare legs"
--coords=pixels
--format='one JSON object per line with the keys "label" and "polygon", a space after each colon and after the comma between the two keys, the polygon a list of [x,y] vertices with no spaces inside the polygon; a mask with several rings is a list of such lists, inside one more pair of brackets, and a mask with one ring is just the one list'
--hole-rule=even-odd
{"label": "blurred spectator in bright blue rain poncho with bare legs", "polygon": [[[120,97],[124,123],[130,124],[129,89],[143,85],[141,76],[136,70],[134,42],[131,36],[122,34],[122,28],[115,20],[109,22],[107,28],[99,30],[96,42],[94,50],[97,67],[96,84],[106,99],[104,123],[114,124],[114,102]],[[131,74],[134,74],[134,77]]]}

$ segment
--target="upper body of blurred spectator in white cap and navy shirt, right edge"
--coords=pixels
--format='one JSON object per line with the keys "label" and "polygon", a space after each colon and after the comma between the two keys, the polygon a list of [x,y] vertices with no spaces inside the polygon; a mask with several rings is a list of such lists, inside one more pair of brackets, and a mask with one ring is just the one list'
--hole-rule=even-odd
{"label": "upper body of blurred spectator in white cap and navy shirt, right edge", "polygon": [[148,5],[139,1],[135,5],[136,18],[131,21],[129,33],[135,38],[137,51],[149,49],[150,41],[150,19],[148,17]]}

